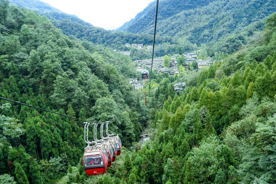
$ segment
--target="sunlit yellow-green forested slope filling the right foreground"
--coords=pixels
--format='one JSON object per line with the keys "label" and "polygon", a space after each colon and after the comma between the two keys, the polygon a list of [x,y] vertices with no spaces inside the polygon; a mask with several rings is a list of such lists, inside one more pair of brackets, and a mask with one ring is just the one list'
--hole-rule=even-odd
{"label": "sunlit yellow-green forested slope filling the right foreground", "polygon": [[[153,75],[148,103],[155,136],[126,154],[127,182],[276,182],[275,23],[276,13],[260,39],[200,72]],[[179,94],[176,82],[187,84]]]}

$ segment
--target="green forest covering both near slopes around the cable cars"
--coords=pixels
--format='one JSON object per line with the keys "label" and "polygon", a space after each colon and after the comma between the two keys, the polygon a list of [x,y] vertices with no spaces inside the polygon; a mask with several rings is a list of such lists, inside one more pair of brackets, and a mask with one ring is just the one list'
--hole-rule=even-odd
{"label": "green forest covering both near slopes around the cable cars", "polygon": [[[221,57],[209,67],[153,70],[147,106],[128,81],[141,77],[131,57],[52,22],[0,0],[0,97],[113,120],[122,153],[104,175],[88,176],[83,122],[0,100],[0,183],[276,183],[276,13],[241,29],[252,28],[244,41],[228,37],[225,48],[239,45],[227,54],[221,40],[206,41]],[[180,93],[176,82],[186,83]],[[140,144],[145,129],[151,139]]]}

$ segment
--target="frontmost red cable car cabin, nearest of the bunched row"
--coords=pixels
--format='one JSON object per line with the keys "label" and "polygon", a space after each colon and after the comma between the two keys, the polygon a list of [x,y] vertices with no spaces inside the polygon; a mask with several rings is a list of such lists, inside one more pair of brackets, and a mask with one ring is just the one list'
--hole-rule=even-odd
{"label": "frontmost red cable car cabin, nearest of the bunched row", "polygon": [[87,175],[104,174],[108,165],[108,152],[104,146],[88,148],[83,155],[83,167]]}

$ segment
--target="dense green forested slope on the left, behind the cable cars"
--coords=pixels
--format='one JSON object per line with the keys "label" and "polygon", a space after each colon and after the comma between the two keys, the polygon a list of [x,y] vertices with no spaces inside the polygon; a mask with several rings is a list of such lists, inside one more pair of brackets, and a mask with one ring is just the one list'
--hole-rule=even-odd
{"label": "dense green forested slope on the left, behind the cable cars", "polygon": [[[0,96],[82,120],[116,118],[110,132],[126,147],[139,141],[148,110],[126,79],[136,75],[129,57],[71,40],[47,17],[1,3]],[[0,101],[0,183],[12,183],[8,174],[18,183],[56,182],[84,147],[82,122]]]}

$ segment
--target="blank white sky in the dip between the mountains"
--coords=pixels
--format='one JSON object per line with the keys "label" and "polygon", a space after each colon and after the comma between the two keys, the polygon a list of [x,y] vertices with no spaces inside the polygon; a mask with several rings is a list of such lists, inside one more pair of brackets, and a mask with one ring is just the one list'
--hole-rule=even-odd
{"label": "blank white sky in the dip between the mountains", "polygon": [[93,26],[115,29],[134,18],[154,0],[41,0]]}

